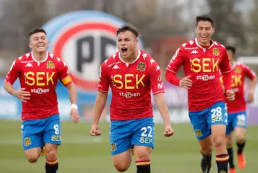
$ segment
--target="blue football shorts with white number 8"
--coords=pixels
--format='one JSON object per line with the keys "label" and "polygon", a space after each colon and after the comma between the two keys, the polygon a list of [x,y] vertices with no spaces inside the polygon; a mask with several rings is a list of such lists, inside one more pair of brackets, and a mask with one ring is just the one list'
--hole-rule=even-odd
{"label": "blue football shorts with white number 8", "polygon": [[44,143],[61,145],[59,114],[44,119],[22,122],[22,145],[24,150],[42,147]]}

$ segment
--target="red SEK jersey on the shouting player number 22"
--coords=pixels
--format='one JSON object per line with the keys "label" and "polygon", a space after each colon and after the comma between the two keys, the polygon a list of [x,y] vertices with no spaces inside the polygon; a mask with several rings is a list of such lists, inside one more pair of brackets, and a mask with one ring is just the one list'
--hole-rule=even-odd
{"label": "red SEK jersey on the shouting player number 22", "polygon": [[112,90],[110,120],[153,117],[150,91],[164,93],[160,66],[150,55],[138,51],[135,62],[124,62],[115,53],[101,64],[98,91]]}

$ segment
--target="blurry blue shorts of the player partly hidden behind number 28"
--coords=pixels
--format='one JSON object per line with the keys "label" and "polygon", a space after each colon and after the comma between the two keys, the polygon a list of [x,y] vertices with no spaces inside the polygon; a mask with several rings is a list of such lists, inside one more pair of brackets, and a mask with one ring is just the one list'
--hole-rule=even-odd
{"label": "blurry blue shorts of the player partly hidden behind number 28", "polygon": [[247,122],[246,111],[241,111],[237,113],[228,113],[228,124],[227,124],[226,135],[234,131],[235,127],[241,127],[241,128],[247,129],[248,122]]}

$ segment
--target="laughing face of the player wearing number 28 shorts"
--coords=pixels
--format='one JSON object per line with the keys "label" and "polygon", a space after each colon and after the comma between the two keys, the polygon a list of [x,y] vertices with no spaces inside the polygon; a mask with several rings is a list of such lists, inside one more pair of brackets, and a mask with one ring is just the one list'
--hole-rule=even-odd
{"label": "laughing face of the player wearing number 28 shorts", "polygon": [[195,30],[199,44],[209,46],[210,39],[215,31],[212,23],[209,21],[199,21]]}

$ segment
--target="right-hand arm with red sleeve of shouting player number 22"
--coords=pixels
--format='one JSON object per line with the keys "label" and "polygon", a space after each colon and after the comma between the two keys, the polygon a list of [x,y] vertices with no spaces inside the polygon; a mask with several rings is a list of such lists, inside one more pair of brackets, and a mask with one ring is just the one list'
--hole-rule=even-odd
{"label": "right-hand arm with red sleeve of shouting player number 22", "polygon": [[157,62],[150,65],[150,86],[153,91],[155,102],[157,104],[157,109],[160,111],[160,115],[164,121],[165,131],[164,136],[172,136],[174,131],[171,128],[171,122],[169,119],[169,109],[166,105],[166,100],[164,98],[164,86],[161,78],[160,67]]}

